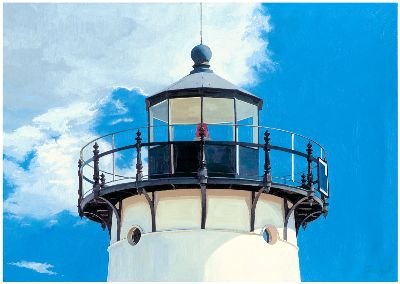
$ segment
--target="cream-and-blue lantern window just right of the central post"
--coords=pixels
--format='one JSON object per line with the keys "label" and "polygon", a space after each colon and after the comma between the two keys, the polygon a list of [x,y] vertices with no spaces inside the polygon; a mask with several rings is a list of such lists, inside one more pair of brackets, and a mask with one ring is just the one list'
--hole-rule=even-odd
{"label": "cream-and-blue lantern window just right of the central post", "polygon": [[216,141],[235,140],[235,107],[233,99],[203,98],[203,123],[208,139]]}

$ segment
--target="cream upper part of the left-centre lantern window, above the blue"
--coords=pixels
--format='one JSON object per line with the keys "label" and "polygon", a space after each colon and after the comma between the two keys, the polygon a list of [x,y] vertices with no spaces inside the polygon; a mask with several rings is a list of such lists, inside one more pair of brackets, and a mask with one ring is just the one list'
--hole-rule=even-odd
{"label": "cream upper part of the left-centre lantern window, above the blue", "polygon": [[197,124],[201,120],[201,98],[170,99],[170,124]]}

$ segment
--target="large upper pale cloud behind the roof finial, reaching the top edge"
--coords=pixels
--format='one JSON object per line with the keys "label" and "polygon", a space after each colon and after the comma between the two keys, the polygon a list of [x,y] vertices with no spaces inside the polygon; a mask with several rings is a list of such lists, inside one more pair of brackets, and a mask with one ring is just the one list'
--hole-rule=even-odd
{"label": "large upper pale cloud behind the roof finial, reaching the top edge", "polygon": [[[254,82],[252,66],[271,63],[261,38],[268,16],[255,3],[203,7],[212,68]],[[191,69],[198,18],[198,4],[6,4],[5,129],[113,87],[151,94],[171,84]]]}

